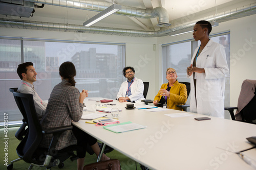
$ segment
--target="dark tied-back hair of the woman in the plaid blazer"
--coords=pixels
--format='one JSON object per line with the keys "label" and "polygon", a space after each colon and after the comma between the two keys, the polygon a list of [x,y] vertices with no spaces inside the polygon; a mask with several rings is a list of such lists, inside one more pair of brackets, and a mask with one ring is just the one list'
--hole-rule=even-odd
{"label": "dark tied-back hair of the woman in the plaid blazer", "polygon": [[63,79],[68,79],[69,84],[71,86],[75,86],[76,82],[74,80],[74,77],[76,76],[76,68],[72,62],[70,61],[63,62],[59,66],[59,75]]}

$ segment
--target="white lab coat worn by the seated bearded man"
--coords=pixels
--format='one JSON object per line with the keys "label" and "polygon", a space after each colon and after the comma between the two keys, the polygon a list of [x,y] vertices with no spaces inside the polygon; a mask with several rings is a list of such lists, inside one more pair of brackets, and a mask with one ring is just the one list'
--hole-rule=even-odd
{"label": "white lab coat worn by the seated bearded man", "polygon": [[[117,93],[116,99],[119,99],[120,97],[125,98],[126,91],[128,89],[128,82],[124,81],[121,84],[121,87]],[[144,91],[144,84],[143,81],[140,79],[137,79],[136,77],[134,78],[134,82],[131,85],[131,92],[132,95],[129,96],[129,99],[131,102],[135,101],[135,103],[141,103],[141,100],[144,100],[143,96],[143,91]]]}

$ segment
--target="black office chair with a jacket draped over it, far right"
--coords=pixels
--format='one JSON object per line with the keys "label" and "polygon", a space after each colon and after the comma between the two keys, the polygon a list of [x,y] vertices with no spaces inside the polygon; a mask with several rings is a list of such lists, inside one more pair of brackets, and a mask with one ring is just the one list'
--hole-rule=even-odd
{"label": "black office chair with a jacket draped over it, far right", "polygon": [[[238,98],[238,107],[225,107],[225,110],[229,111],[232,120],[238,120],[241,122],[256,124],[253,122],[253,120],[256,119],[256,114],[255,114],[256,88],[255,86],[256,86],[256,80],[244,80],[242,83],[242,88]],[[234,110],[238,110],[236,115],[234,114]]]}

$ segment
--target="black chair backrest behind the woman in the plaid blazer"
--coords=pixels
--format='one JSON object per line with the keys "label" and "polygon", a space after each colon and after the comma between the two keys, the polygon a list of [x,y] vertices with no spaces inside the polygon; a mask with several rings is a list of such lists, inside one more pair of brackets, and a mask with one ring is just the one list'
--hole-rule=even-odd
{"label": "black chair backrest behind the woman in the plaid blazer", "polygon": [[19,107],[24,111],[23,114],[26,114],[28,125],[28,133],[16,149],[17,155],[25,162],[36,163],[33,160],[33,155],[41,142],[42,129],[36,114],[33,95],[18,92],[13,92],[13,95],[18,101]]}

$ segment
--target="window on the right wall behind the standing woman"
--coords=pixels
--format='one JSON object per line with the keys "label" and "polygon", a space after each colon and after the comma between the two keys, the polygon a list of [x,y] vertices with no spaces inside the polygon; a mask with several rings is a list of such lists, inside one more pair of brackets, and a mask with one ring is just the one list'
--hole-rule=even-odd
{"label": "window on the right wall behind the standing woman", "polygon": [[[216,34],[210,36],[210,38],[222,44],[225,48],[227,63],[230,70],[230,33]],[[182,42],[163,44],[163,82],[166,83],[166,69],[168,67],[173,67],[177,71],[178,81],[190,82],[190,79],[186,78],[186,69],[190,65],[191,58],[195,51],[195,48],[199,45],[200,41],[195,41],[194,39],[186,40]],[[230,75],[226,77],[226,87],[225,87],[225,106],[229,106],[230,101]],[[190,95],[189,95],[190,96]],[[187,104],[190,102],[190,97],[187,100]],[[226,114],[229,117],[229,114]]]}

